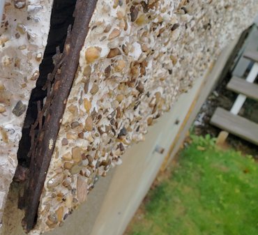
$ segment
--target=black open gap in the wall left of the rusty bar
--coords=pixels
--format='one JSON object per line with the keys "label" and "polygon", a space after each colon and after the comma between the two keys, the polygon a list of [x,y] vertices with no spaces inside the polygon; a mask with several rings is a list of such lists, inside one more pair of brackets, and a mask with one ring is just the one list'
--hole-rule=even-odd
{"label": "black open gap in the wall left of the rusty bar", "polygon": [[[50,33],[47,39],[47,46],[40,64],[40,76],[36,82],[36,87],[31,92],[26,118],[22,129],[22,139],[20,140],[17,152],[18,163],[22,167],[29,168],[30,158],[28,157],[31,147],[31,137],[29,136],[31,124],[36,121],[38,109],[37,101],[40,100],[41,108],[43,100],[47,96],[47,91],[43,91],[43,86],[47,81],[47,75],[54,69],[52,57],[56,54],[56,47],[63,52],[63,45],[66,40],[68,26],[74,22],[73,12],[76,0],[54,0],[51,20]],[[53,81],[54,82],[54,81]]]}

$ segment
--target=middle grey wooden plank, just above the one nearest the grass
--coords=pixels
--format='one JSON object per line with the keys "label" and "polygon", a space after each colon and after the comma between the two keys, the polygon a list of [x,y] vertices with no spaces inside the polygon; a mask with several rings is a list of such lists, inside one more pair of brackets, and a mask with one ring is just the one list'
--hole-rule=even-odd
{"label": "middle grey wooden plank, just above the one nearest the grass", "polygon": [[258,100],[258,85],[246,82],[245,79],[240,77],[232,77],[227,84],[227,89],[236,93],[241,93],[254,100]]}

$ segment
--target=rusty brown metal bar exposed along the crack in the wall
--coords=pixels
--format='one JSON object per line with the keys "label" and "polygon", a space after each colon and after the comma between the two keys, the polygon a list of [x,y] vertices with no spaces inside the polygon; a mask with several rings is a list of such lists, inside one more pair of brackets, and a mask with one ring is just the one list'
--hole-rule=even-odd
{"label": "rusty brown metal bar exposed along the crack in the wall", "polygon": [[[96,3],[97,0],[77,0],[73,30],[66,40],[64,47],[61,78],[55,79],[52,86],[54,89],[52,89],[52,93],[50,93],[49,98],[47,98],[48,100],[45,107],[40,111],[46,112],[45,122],[38,133],[37,140],[34,140],[33,146],[31,146],[33,151],[31,152],[29,183],[24,192],[24,198],[26,198],[26,202],[24,204],[24,227],[26,232],[33,229],[33,226],[36,223],[36,214],[38,211],[40,195],[43,190],[45,177],[50,165],[56,137],[59,132],[60,120],[63,116],[63,112],[66,107],[66,100],[73,85],[73,80],[79,63],[79,52],[84,45],[84,40],[89,31],[89,22],[94,9],[96,8]],[[59,65],[60,63],[56,66]],[[54,71],[57,71],[56,66]],[[35,126],[38,126],[38,123],[40,123],[41,126],[40,119],[42,120],[42,114],[38,115],[34,128]]]}

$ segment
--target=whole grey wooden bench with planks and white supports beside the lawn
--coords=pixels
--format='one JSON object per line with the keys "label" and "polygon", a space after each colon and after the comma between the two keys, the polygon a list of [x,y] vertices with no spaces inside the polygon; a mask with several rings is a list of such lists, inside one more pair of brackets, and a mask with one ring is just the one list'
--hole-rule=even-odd
{"label": "whole grey wooden bench with planks and white supports beside the lawn", "polygon": [[[227,89],[238,93],[234,105],[230,111],[218,107],[211,118],[212,125],[226,130],[226,132],[220,132],[218,136],[217,142],[220,144],[225,142],[228,132],[230,132],[258,145],[258,124],[238,116],[247,97],[258,100],[258,85],[253,84],[258,75],[257,42],[258,31],[257,27],[254,25],[252,26],[248,39],[240,50],[241,52],[239,54],[241,54],[241,56],[237,59],[238,62],[234,68],[233,77],[227,84]],[[252,68],[247,77],[245,79],[240,78],[245,75],[248,66],[252,66]]]}

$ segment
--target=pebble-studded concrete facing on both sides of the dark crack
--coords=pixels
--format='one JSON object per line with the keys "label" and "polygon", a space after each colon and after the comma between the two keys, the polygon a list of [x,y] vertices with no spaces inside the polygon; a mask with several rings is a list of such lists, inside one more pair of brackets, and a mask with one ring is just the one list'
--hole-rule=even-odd
{"label": "pebble-studded concrete facing on both sides of the dark crack", "polygon": [[[0,221],[52,0],[6,1],[0,33]],[[204,75],[257,0],[98,0],[31,234],[63,225],[99,176]],[[50,143],[51,145],[51,143]]]}

